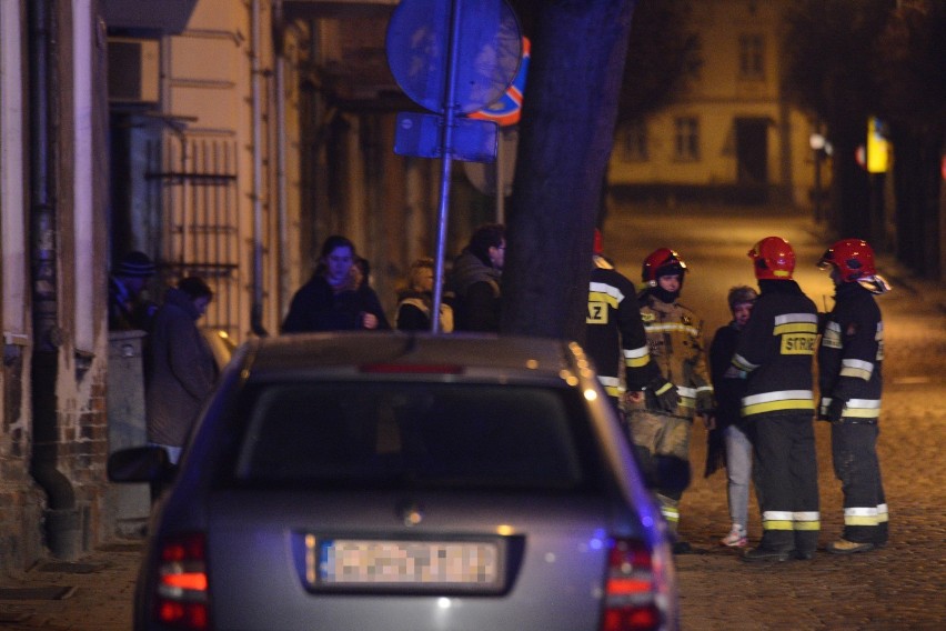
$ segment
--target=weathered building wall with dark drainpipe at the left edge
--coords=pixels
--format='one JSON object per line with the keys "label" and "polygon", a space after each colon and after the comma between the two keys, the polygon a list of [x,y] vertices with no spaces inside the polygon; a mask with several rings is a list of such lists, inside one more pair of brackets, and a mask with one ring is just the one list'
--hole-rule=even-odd
{"label": "weathered building wall with dark drainpipe at the left edge", "polygon": [[105,32],[92,0],[0,2],[0,569],[105,535]]}

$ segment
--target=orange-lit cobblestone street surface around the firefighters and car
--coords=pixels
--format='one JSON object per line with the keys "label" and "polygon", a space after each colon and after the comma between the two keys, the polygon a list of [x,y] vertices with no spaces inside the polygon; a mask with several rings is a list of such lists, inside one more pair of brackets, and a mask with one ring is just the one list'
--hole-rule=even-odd
{"label": "orange-lit cobblestone street surface around the firefighters and car", "polygon": [[[768,236],[788,239],[796,279],[819,309],[833,288],[815,262],[833,241],[807,214],[778,209],[614,208],[605,253],[640,281],[641,263],[660,247],[690,267],[682,302],[705,319],[710,337],[728,321],[726,292],[755,284],[746,252]],[[844,236],[847,237],[847,236]],[[946,629],[946,292],[882,258],[894,291],[880,298],[885,319],[885,392],[879,441],[890,510],[890,542],[879,551],[813,561],[747,564],[717,541],[729,528],[725,471],[703,479],[706,431],[695,427],[697,475],[681,505],[681,532],[702,553],[677,557],[683,629]],[[816,424],[822,498],[821,547],[842,529],[841,489],[831,465],[829,432]],[[762,527],[751,499],[749,544]],[[80,563],[44,562],[22,577],[0,577],[0,629],[130,629],[140,542],[114,542]],[[57,589],[59,588],[59,589]],[[32,590],[32,591],[30,591]],[[542,630],[535,630],[542,631]]]}

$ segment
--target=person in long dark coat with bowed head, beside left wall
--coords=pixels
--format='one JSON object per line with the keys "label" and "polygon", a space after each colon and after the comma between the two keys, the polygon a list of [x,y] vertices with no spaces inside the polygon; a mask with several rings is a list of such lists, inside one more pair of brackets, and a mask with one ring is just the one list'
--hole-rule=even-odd
{"label": "person in long dark coat with bowed head, beside left wall", "polygon": [[213,292],[188,277],[164,293],[151,327],[145,415],[148,441],[177,462],[191,427],[217,381],[217,362],[197,321]]}

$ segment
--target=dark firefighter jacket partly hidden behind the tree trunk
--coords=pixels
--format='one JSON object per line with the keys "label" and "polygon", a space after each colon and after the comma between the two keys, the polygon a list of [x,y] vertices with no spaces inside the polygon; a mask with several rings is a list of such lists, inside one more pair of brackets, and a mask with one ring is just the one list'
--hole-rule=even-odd
{"label": "dark firefighter jacket partly hidden behind the tree trunk", "polygon": [[594,257],[588,284],[585,322],[585,350],[594,361],[598,380],[607,394],[617,398],[625,385],[627,390],[642,390],[647,381],[651,357],[634,283],[597,256]]}

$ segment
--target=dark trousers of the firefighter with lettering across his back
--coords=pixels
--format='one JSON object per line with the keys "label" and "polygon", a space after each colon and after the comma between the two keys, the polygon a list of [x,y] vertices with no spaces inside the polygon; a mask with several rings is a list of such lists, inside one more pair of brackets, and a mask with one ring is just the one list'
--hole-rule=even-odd
{"label": "dark trousers of the firefighter with lettering across his back", "polygon": [[821,530],[812,413],[759,414],[748,425],[766,550],[814,553]]}

